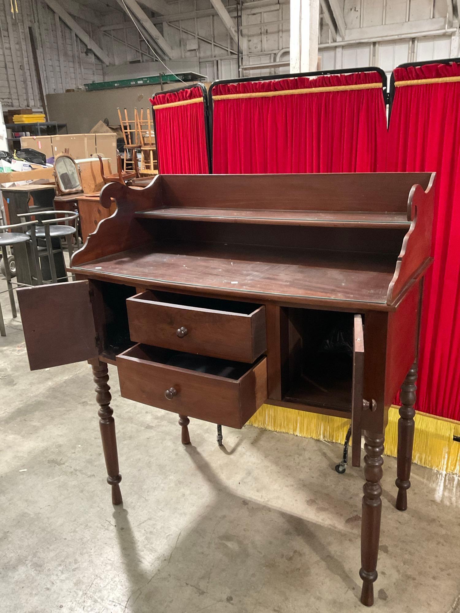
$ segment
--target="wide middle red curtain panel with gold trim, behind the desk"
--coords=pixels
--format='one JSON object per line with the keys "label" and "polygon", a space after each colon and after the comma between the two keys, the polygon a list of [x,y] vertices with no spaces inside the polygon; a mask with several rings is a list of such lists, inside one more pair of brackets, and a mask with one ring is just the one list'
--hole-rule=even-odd
{"label": "wide middle red curtain panel with gold trim, behind the desk", "polygon": [[[378,72],[359,72],[215,86],[213,172],[385,170],[387,131],[381,83]],[[359,88],[369,84],[377,86]],[[358,88],[218,98],[337,86]]]}

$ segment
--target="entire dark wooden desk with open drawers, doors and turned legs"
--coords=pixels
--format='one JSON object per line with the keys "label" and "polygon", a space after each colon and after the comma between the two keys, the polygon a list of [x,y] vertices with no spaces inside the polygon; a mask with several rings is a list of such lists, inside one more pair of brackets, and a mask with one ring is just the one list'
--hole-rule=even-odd
{"label": "entire dark wooden desk with open drawers, doors and turned legs", "polygon": [[[264,402],[364,431],[361,571],[374,602],[382,453],[401,387],[396,507],[407,508],[434,175],[159,175],[74,254],[75,283],[18,290],[32,369],[90,360],[121,503],[107,363],[121,395],[241,428]],[[37,305],[40,318],[37,321]],[[59,314],[59,318],[56,318]]]}

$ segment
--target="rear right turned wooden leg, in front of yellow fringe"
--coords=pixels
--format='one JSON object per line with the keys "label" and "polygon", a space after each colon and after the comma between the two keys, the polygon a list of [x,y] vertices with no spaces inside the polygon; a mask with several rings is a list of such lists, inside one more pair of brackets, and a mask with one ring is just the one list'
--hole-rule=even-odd
{"label": "rear right turned wooden leg, in front of yellow fringe", "polygon": [[412,447],[414,433],[414,415],[417,386],[417,363],[407,373],[401,386],[401,407],[399,408],[399,421],[397,422],[397,479],[398,489],[396,508],[399,511],[407,509],[407,490],[410,488],[410,466],[412,465]]}

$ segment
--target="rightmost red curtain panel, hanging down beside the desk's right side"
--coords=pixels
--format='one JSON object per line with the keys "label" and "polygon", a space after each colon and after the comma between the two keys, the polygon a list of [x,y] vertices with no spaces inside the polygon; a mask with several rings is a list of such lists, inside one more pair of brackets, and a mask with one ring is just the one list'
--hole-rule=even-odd
{"label": "rightmost red curtain panel, hanging down beside the desk's right side", "polygon": [[[459,64],[394,70],[396,84],[460,77]],[[460,419],[460,82],[397,86],[388,170],[437,172],[434,265],[424,285],[417,408]]]}

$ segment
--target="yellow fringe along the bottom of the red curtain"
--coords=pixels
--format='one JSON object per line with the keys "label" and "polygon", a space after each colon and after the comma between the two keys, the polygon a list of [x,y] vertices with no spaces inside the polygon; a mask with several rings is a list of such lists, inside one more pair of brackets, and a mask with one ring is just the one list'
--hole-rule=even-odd
{"label": "yellow fringe along the bottom of the red curtain", "polygon": [[[397,455],[398,408],[391,406],[389,409],[385,432],[385,454],[392,457]],[[343,444],[350,420],[286,409],[282,406],[262,405],[248,423],[275,432]],[[460,435],[460,422],[439,419],[417,411],[413,462],[443,473],[460,475],[460,443],[453,440],[454,435]],[[337,458],[337,462],[339,459]]]}

